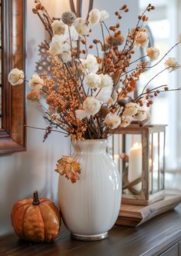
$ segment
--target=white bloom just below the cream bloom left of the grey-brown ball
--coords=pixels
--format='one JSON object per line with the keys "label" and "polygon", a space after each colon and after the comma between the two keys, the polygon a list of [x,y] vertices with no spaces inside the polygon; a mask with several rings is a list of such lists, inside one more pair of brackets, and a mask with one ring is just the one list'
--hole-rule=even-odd
{"label": "white bloom just below the cream bloom left of the grey-brown ball", "polygon": [[70,45],[68,45],[67,42],[64,42],[64,37],[54,35],[50,43],[49,53],[52,56],[56,56],[64,51],[70,51]]}

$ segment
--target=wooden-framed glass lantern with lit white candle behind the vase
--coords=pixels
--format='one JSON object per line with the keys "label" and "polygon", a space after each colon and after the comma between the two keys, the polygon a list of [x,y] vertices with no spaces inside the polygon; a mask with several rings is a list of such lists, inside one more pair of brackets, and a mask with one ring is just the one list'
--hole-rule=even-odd
{"label": "wooden-framed glass lantern with lit white candle behind the vase", "polygon": [[112,156],[123,171],[123,204],[147,205],[164,198],[165,132],[166,125],[130,125],[112,136]]}

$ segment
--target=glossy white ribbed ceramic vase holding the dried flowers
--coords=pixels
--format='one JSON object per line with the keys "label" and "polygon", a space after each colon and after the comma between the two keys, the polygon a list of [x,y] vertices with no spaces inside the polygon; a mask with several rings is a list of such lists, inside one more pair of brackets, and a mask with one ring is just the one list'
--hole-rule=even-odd
{"label": "glossy white ribbed ceramic vase holding the dried flowers", "polygon": [[64,224],[74,238],[106,238],[120,211],[120,173],[107,155],[106,140],[74,141],[73,146],[81,175],[75,184],[59,176],[58,198]]}

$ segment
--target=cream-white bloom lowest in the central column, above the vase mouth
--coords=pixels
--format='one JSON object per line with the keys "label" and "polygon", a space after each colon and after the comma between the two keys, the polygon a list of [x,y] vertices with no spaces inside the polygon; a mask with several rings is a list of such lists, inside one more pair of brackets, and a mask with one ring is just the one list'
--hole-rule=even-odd
{"label": "cream-white bloom lowest in the central column, above the vase mouth", "polygon": [[91,115],[97,114],[97,112],[100,111],[100,107],[101,104],[97,98],[87,97],[83,102],[83,110],[77,109],[75,111],[76,118],[89,118]]}

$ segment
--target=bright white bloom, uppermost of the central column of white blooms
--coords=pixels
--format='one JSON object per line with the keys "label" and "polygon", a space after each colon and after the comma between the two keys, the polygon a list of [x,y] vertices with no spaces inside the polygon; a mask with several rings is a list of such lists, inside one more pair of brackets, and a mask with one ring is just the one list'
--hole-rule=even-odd
{"label": "bright white bloom, uppermost of the central column of white blooms", "polygon": [[96,73],[99,69],[97,58],[94,55],[87,55],[86,59],[81,59],[81,63],[83,65],[81,69],[85,74]]}

